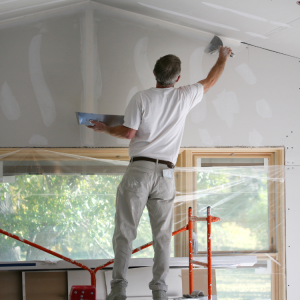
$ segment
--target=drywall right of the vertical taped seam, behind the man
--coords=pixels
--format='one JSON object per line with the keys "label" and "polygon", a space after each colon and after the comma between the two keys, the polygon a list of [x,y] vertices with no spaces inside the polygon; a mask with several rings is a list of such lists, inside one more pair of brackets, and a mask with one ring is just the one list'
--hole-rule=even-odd
{"label": "drywall right of the vertical taped seam, behind the man", "polygon": [[[94,9],[103,84],[99,112],[123,114],[134,92],[154,86],[151,69],[162,55],[173,53],[182,60],[176,86],[203,79],[217,59],[204,53],[208,38],[201,32],[100,4]],[[182,146],[287,145],[288,133],[299,126],[298,61],[262,49],[231,46],[237,55],[228,60],[220,81],[189,114]],[[122,144],[126,141],[100,134],[96,146]],[[299,147],[296,139],[293,144],[293,149]],[[300,162],[294,153],[294,163]]]}

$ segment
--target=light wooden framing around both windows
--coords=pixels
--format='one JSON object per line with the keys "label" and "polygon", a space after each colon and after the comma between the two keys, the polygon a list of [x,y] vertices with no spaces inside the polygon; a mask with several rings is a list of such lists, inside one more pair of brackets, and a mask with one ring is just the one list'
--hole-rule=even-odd
{"label": "light wooden framing around both windows", "polygon": [[[23,150],[24,148],[0,148],[0,157],[7,154],[7,160],[9,160],[9,154],[15,152],[14,157],[18,156],[18,151]],[[58,152],[68,155],[79,155],[87,158],[97,158],[97,159],[109,159],[109,160],[120,160],[128,161],[128,148],[127,147],[118,147],[118,148],[25,148],[28,150],[32,149],[41,149],[48,150],[49,156],[47,160],[51,159],[51,151]],[[197,157],[231,157],[234,153],[235,157],[263,157],[269,159],[269,165],[284,165],[284,147],[270,147],[270,148],[181,148],[177,160],[177,167],[194,167],[196,166]],[[65,157],[67,160],[67,156]],[[70,160],[73,158],[70,158]],[[30,158],[29,158],[30,160]],[[176,189],[183,193],[188,193],[192,191],[195,186],[195,176],[191,174],[181,174],[175,178]],[[286,274],[282,276],[280,270],[286,270],[286,260],[285,260],[285,251],[286,251],[286,242],[285,242],[285,198],[284,196],[284,183],[277,183],[274,187],[277,191],[277,206],[280,208],[276,212],[272,212],[275,224],[275,218],[277,218],[278,224],[283,224],[283,234],[277,235],[277,249],[272,248],[272,251],[268,253],[256,253],[258,260],[266,260],[268,257],[272,259],[272,300],[285,300],[286,299]],[[275,201],[272,199],[272,201]],[[180,208],[175,207],[175,221],[176,215],[187,213],[189,206],[195,208],[195,203],[192,201],[186,201],[184,205],[181,205]],[[180,211],[178,211],[180,209]],[[272,221],[273,222],[273,221]],[[182,223],[182,222],[181,222]],[[176,226],[183,227],[186,224],[181,224],[178,222]],[[274,226],[274,225],[273,225]],[[177,228],[175,228],[177,229]],[[174,249],[175,257],[188,257],[188,236],[186,233],[175,236],[174,239]],[[265,254],[266,253],[266,254]],[[227,253],[227,252],[214,252],[213,255],[253,255],[253,253],[248,252],[239,252],[239,253]],[[199,253],[196,256],[203,256],[203,253]]]}

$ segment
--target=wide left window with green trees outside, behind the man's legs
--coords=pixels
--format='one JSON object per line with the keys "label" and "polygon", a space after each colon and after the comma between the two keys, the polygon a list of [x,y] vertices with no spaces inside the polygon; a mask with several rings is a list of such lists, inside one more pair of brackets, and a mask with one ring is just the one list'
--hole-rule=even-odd
{"label": "wide left window with green trees outside, behind the man's legs", "polygon": [[[113,258],[115,197],[128,165],[128,157],[117,156],[102,160],[43,149],[2,156],[0,228],[72,259]],[[145,210],[133,246],[151,240]],[[149,247],[133,257],[152,256]],[[0,261],[45,258],[57,259],[0,235]]]}

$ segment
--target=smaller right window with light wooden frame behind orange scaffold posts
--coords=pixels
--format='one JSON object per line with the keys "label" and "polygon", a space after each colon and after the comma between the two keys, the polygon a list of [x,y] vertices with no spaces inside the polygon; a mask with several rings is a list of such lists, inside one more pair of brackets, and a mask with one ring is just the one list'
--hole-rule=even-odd
{"label": "smaller right window with light wooden frame behind orange scaffold posts", "polygon": [[[221,299],[285,299],[285,229],[282,148],[182,149],[176,187],[175,226],[206,207],[221,217],[212,226],[213,255],[256,255],[251,268],[218,269]],[[192,197],[191,197],[192,195]],[[206,253],[206,225],[198,222],[199,256]],[[185,236],[175,237],[175,255],[188,256]]]}

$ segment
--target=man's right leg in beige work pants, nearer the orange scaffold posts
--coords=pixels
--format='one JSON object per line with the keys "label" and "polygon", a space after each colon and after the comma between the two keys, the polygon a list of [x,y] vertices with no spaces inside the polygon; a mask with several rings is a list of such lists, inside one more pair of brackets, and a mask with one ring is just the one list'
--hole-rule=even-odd
{"label": "man's right leg in beige work pants, nearer the orange scaffold posts", "polygon": [[157,172],[156,176],[156,185],[147,202],[155,252],[153,280],[149,283],[149,288],[152,291],[167,291],[165,280],[169,272],[175,184],[174,179],[162,177],[162,172]]}

